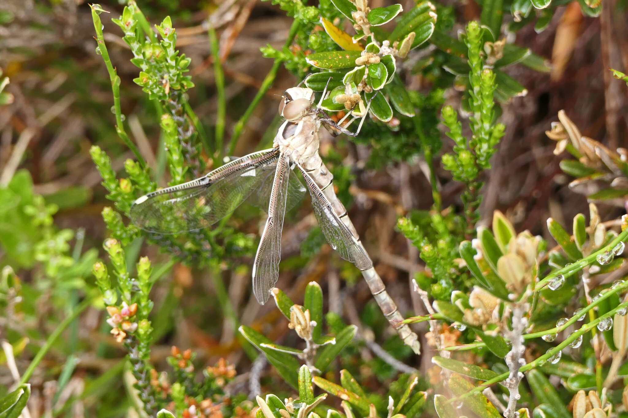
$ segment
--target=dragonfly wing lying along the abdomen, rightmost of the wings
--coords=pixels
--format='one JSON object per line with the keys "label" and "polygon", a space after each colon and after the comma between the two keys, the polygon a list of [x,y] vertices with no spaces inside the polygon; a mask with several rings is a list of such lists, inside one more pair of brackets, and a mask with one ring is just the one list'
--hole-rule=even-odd
{"label": "dragonfly wing lying along the abdomen, rightmost of the wings", "polygon": [[338,251],[340,257],[351,261],[360,270],[371,268],[373,262],[365,252],[364,247],[355,239],[349,227],[338,217],[329,199],[327,199],[327,196],[325,196],[320,187],[318,187],[318,184],[312,179],[311,175],[308,174],[301,165],[298,167],[301,170],[301,174],[303,174],[305,184],[310,190],[314,214],[317,217],[318,225],[320,229],[322,229],[327,242],[333,249]]}

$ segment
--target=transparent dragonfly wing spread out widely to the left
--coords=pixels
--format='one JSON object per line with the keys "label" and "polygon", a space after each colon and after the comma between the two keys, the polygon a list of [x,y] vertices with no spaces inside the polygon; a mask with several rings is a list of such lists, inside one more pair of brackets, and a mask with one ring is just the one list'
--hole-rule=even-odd
{"label": "transparent dragonfly wing spread out widely to the left", "polygon": [[264,169],[274,167],[278,157],[277,149],[254,152],[199,179],[149,193],[131,206],[131,220],[146,231],[161,234],[210,226],[251,196],[264,181]]}

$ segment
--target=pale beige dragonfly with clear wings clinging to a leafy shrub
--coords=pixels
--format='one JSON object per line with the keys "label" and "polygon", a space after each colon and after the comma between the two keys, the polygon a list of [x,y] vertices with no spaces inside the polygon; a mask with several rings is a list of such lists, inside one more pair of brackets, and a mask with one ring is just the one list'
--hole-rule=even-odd
{"label": "pale beige dragonfly with clear wings clinging to a leafy shrub", "polygon": [[[420,353],[416,333],[403,323],[404,318],[374,269],[347,209],[335,194],[332,172],[318,153],[323,125],[355,137],[371,103],[362,113],[357,132],[350,132],[341,124],[352,112],[335,122],[321,107],[326,92],[327,88],[315,105],[315,94],[310,88],[288,88],[279,103],[279,114],[285,121],[273,140],[273,148],[230,160],[203,177],[139,197],[131,207],[131,220],[151,233],[176,234],[211,226],[244,201],[267,208],[268,218],[252,268],[253,293],[264,304],[279,277],[284,214],[296,206],[307,189],[327,242],[340,257],[360,269],[391,326],[404,343]],[[354,115],[349,123],[355,118]],[[296,173],[301,174],[305,187]]]}

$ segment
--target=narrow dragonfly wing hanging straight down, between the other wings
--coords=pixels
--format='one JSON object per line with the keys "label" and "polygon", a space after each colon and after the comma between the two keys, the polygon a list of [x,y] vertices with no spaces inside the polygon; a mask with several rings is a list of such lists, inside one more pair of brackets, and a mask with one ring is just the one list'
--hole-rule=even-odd
{"label": "narrow dragonfly wing hanging straight down, between the other wings", "polygon": [[257,247],[255,263],[253,263],[253,293],[262,305],[268,300],[271,295],[270,291],[279,278],[281,229],[288,201],[289,180],[288,158],[279,154],[268,204],[268,219],[266,219],[259,247]]}

